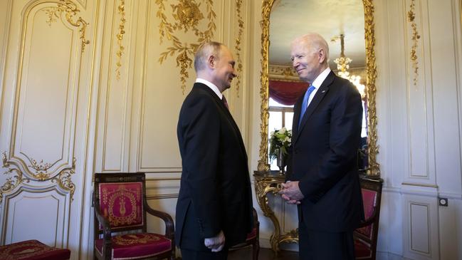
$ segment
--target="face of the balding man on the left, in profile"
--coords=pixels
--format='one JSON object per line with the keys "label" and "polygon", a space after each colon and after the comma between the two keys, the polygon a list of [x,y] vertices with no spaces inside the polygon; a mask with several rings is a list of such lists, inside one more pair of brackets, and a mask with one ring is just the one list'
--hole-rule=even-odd
{"label": "face of the balding man on the left, in profile", "polygon": [[233,54],[231,54],[229,48],[221,46],[219,58],[214,62],[214,84],[223,92],[231,87],[231,81],[236,77],[236,71],[234,70],[236,61],[234,61]]}

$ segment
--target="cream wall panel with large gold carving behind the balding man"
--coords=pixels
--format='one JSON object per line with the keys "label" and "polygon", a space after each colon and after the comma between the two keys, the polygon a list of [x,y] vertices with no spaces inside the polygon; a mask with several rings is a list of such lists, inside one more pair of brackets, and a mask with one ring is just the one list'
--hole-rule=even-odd
{"label": "cream wall panel with large gold carving behind the balding man", "polygon": [[[194,50],[220,33],[221,1],[147,1],[140,86],[137,170],[181,172],[177,145],[179,109],[195,80]],[[184,13],[184,12],[186,13]],[[194,15],[189,13],[194,11]],[[190,16],[182,16],[190,14]],[[144,38],[145,37],[145,38]],[[232,48],[232,46],[230,46]]]}

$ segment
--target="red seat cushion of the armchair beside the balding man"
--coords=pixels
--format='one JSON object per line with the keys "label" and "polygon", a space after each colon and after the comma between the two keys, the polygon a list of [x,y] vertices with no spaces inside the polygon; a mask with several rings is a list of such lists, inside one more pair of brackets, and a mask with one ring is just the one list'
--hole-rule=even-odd
{"label": "red seat cushion of the armchair beside the balding man", "polygon": [[[104,239],[95,241],[97,254],[103,255]],[[140,259],[162,254],[172,249],[172,241],[152,233],[123,234],[112,236],[111,259]]]}

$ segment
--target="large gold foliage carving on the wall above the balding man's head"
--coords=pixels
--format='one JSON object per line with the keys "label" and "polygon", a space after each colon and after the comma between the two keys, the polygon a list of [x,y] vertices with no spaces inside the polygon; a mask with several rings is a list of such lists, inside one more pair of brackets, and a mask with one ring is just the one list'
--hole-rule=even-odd
{"label": "large gold foliage carving on the wall above the balding man's head", "polygon": [[[199,25],[199,21],[204,19],[204,15],[199,9],[200,4],[197,4],[194,0],[179,0],[179,4],[172,4],[172,11],[174,12],[173,17],[177,21],[171,24],[167,21],[167,16],[164,14],[164,1],[165,0],[156,0],[156,4],[159,6],[157,17],[161,20],[159,24],[159,40],[162,44],[163,38],[167,37],[169,41],[172,41],[173,46],[168,47],[167,51],[160,53],[159,63],[162,64],[168,56],[177,54],[177,67],[180,68],[180,80],[182,82],[184,94],[186,90],[186,80],[189,78],[187,69],[191,68],[193,62],[190,56],[194,55],[194,51],[201,43],[210,41],[216,30],[216,14],[213,10],[214,3],[212,0],[202,0],[202,2],[206,4],[206,18],[209,20],[209,23],[205,31],[200,31],[197,26]],[[179,41],[179,38],[174,35],[176,31],[184,30],[184,33],[187,33],[189,29],[194,31],[194,35],[198,37],[196,43],[182,43]]]}

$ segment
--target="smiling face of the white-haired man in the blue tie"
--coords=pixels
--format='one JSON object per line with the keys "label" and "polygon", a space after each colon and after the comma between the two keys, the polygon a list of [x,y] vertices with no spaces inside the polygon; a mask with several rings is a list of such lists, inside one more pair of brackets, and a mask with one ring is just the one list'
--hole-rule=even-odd
{"label": "smiling face of the white-haired man in the blue tie", "polygon": [[323,57],[319,51],[313,51],[306,41],[295,41],[292,44],[290,58],[292,66],[297,71],[301,80],[313,83],[315,78],[322,72],[321,66]]}

